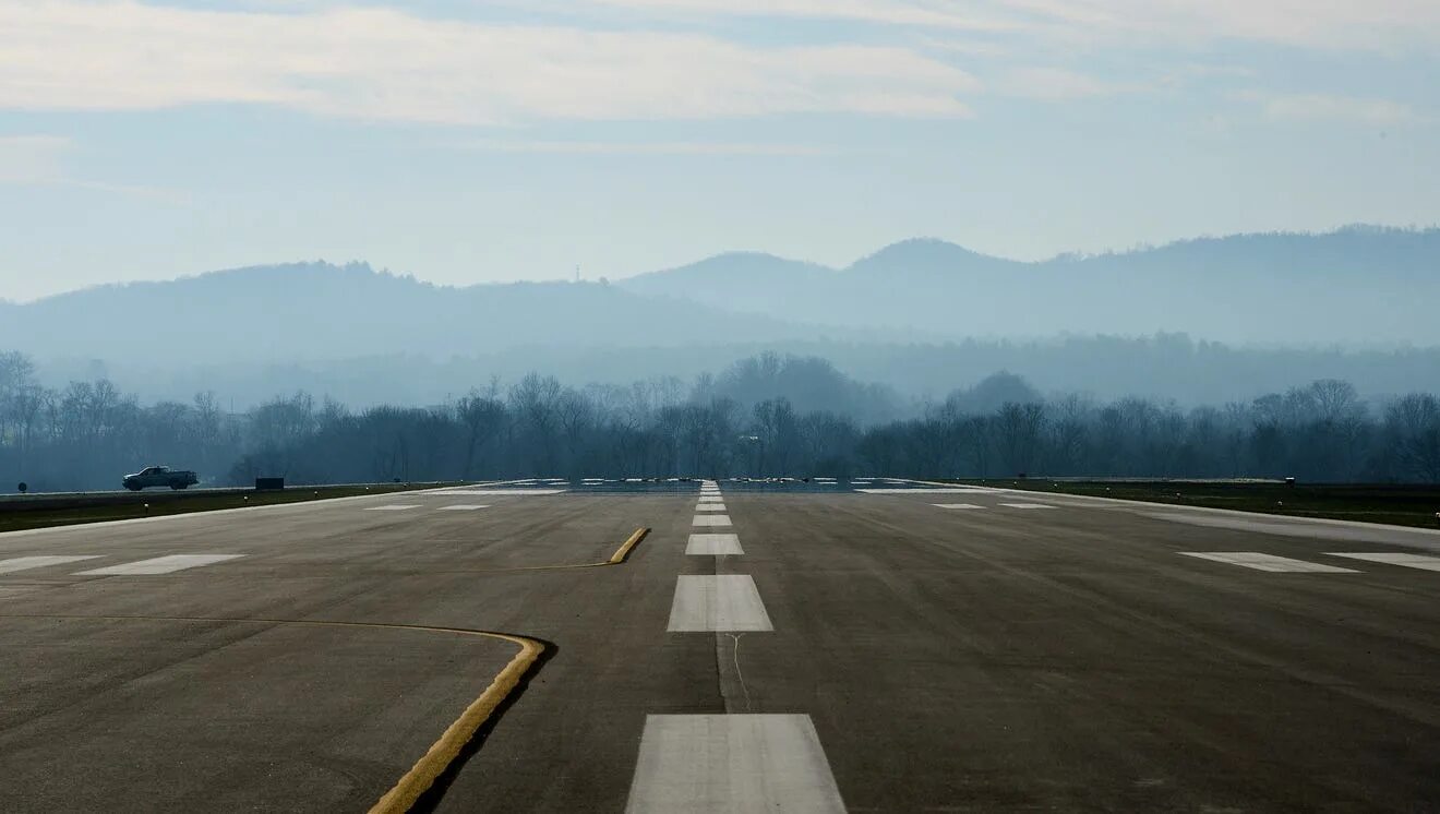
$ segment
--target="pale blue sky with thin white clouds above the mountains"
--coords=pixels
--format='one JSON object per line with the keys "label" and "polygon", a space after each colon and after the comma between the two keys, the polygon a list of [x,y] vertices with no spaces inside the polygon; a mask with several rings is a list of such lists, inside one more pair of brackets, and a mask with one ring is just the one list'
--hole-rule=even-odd
{"label": "pale blue sky with thin white clouds above the mountains", "polygon": [[1440,222],[1433,0],[0,3],[0,298]]}

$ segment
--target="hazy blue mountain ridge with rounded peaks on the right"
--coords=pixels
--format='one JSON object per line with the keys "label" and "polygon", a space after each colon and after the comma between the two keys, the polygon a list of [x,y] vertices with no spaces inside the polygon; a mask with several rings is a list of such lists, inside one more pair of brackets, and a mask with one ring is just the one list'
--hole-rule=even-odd
{"label": "hazy blue mountain ridge with rounded peaks on the right", "polygon": [[916,239],[844,269],[739,254],[622,285],[783,320],[950,339],[1188,333],[1228,343],[1440,343],[1440,229],[1234,235],[1044,262]]}

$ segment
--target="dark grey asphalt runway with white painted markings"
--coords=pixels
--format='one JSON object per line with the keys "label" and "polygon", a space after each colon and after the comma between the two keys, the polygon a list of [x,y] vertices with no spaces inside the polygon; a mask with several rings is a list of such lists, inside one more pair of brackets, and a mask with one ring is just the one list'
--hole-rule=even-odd
{"label": "dark grey asphalt runway with white painted markings", "polygon": [[366,811],[490,699],[419,810],[1434,811],[1437,599],[1434,532],[886,480],[17,532],[0,810]]}

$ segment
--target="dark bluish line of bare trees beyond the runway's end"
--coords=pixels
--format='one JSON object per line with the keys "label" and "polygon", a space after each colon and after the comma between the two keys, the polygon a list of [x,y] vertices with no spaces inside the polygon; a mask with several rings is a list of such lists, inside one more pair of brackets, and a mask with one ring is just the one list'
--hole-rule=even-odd
{"label": "dark bluish line of bare trees beyond the runway's end", "polygon": [[199,470],[207,484],[1020,473],[1440,483],[1440,399],[1372,403],[1325,379],[1181,409],[1047,396],[996,373],[939,402],[900,405],[822,359],[760,354],[690,383],[570,388],[530,373],[431,408],[356,411],[301,392],[229,413],[213,393],[141,405],[104,379],[43,388],[27,357],[0,353],[7,480],[115,488],[153,462]]}

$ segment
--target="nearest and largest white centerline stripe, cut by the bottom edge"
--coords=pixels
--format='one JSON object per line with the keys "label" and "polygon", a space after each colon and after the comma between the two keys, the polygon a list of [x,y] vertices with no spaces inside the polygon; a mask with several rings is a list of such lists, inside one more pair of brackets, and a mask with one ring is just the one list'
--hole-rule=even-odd
{"label": "nearest and largest white centerline stripe, cut by the bottom edge", "polygon": [[808,715],[649,715],[628,814],[844,813]]}

